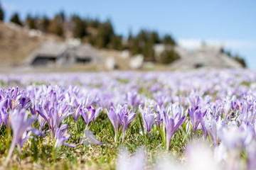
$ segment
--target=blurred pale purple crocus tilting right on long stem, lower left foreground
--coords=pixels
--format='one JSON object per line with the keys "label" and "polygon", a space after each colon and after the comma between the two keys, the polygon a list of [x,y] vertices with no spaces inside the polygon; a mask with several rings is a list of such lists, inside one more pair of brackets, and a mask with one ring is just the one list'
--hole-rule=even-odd
{"label": "blurred pale purple crocus tilting right on long stem, lower left foreground", "polygon": [[26,130],[31,127],[33,122],[35,122],[36,117],[32,116],[31,118],[27,118],[28,113],[25,110],[18,111],[18,113],[14,113],[11,116],[11,129],[14,133],[13,139],[11,141],[11,147],[9,149],[8,155],[6,157],[6,162],[9,162],[11,158],[12,152],[14,152],[14,148],[19,139],[21,139],[22,135]]}

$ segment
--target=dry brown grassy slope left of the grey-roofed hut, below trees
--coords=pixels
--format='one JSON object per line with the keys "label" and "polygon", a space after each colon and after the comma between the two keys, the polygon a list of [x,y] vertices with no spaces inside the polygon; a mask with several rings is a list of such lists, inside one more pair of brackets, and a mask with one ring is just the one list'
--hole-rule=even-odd
{"label": "dry brown grassy slope left of the grey-roofed hut, below trees", "polygon": [[50,39],[61,40],[56,35],[0,21],[0,66],[9,67],[21,64],[41,45],[41,42]]}

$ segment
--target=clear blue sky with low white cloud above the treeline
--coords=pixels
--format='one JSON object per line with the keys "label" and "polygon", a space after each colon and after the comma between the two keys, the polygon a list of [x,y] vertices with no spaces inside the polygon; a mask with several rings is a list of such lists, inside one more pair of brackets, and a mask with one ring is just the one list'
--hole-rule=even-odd
{"label": "clear blue sky with low white cloud above the treeline", "polygon": [[14,11],[22,18],[27,13],[53,16],[63,10],[105,20],[114,30],[127,35],[141,28],[170,33],[183,47],[198,47],[202,41],[223,45],[233,54],[245,57],[250,69],[256,69],[256,1],[85,1],[85,0],[0,0],[9,20]]}

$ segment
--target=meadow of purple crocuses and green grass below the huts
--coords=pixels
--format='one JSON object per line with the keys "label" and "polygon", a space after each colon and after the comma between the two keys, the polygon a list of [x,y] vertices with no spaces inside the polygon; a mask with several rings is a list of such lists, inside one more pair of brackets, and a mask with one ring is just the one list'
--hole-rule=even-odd
{"label": "meadow of purple crocuses and green grass below the huts", "polygon": [[0,75],[4,169],[256,169],[256,72]]}

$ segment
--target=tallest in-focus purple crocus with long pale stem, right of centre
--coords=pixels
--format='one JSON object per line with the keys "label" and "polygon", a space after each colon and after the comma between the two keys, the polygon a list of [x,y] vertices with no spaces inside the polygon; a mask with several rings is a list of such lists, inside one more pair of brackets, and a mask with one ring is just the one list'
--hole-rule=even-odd
{"label": "tallest in-focus purple crocus with long pale stem, right of centre", "polygon": [[171,137],[186,120],[185,115],[183,115],[183,109],[180,108],[178,105],[172,105],[171,111],[172,114],[168,113],[169,109],[167,109],[167,112],[163,112],[164,126],[166,128],[166,150],[169,149]]}

